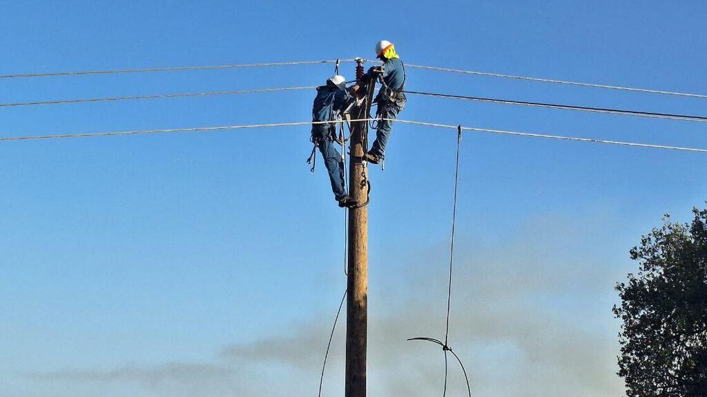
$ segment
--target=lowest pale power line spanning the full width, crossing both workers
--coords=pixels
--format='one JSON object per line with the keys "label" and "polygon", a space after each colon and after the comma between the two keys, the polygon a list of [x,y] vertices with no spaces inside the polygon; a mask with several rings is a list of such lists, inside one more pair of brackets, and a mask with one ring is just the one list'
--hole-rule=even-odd
{"label": "lowest pale power line spanning the full width, crossing both workers", "polygon": [[[373,120],[380,120],[375,118],[368,119],[353,119],[347,120],[347,122],[369,122]],[[414,122],[410,120],[401,119],[385,119],[391,122],[399,122],[404,124],[416,124],[421,126],[435,126],[447,129],[457,129],[458,126],[452,126],[448,124],[436,124],[428,122]],[[193,128],[180,128],[180,129],[148,129],[148,130],[136,130],[136,131],[112,131],[112,132],[95,132],[88,134],[60,134],[60,135],[38,135],[38,136],[5,136],[0,137],[0,141],[33,141],[42,139],[59,139],[59,138],[87,138],[90,136],[112,136],[112,135],[139,135],[139,134],[165,134],[172,132],[191,132],[191,131],[223,131],[232,129],[250,129],[250,128],[262,128],[262,127],[276,127],[276,126],[304,126],[312,124],[332,124],[341,123],[344,120],[335,120],[333,122],[292,122],[292,123],[271,123],[271,124],[247,124],[238,126],[213,126],[213,127],[193,127]],[[707,153],[707,149],[699,148],[684,148],[680,146],[665,146],[665,145],[653,145],[650,143],[633,143],[624,141],[607,141],[603,139],[594,138],[578,138],[575,136],[559,136],[559,135],[547,135],[547,134],[531,134],[527,132],[516,132],[516,131],[504,131],[497,129],[482,129],[476,127],[463,127],[462,130],[466,131],[479,131],[488,132],[490,134],[506,134],[515,136],[528,136],[534,138],[549,138],[549,139],[560,139],[564,141],[578,141],[578,142],[591,142],[591,143],[607,143],[611,145],[624,145],[624,146],[637,146],[641,148],[657,148],[657,149],[670,149],[670,150],[683,150],[689,152],[699,152]]]}

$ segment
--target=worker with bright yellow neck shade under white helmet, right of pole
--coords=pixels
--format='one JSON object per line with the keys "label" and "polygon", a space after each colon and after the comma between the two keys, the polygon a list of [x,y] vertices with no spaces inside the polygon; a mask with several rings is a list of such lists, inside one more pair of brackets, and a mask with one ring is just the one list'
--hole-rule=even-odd
{"label": "worker with bright yellow neck shade under white helmet, right of pole", "polygon": [[[405,67],[395,52],[395,46],[392,42],[380,40],[375,45],[375,55],[383,61],[383,86],[375,97],[375,102],[378,103],[376,116],[381,120],[378,122],[375,141],[370,146],[366,158],[369,162],[378,164],[385,157],[385,146],[392,130],[392,121],[389,119],[397,118],[398,113],[404,109],[407,98],[402,93],[405,89]],[[375,68],[369,69],[367,75],[374,73],[374,70]],[[358,85],[354,85],[353,90],[358,90]]]}

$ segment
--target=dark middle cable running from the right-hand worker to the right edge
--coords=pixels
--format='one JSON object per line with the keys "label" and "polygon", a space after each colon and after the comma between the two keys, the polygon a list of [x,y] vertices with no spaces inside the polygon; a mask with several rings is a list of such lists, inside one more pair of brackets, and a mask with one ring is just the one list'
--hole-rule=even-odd
{"label": "dark middle cable running from the right-hand worker to the right edge", "polygon": [[550,109],[566,109],[566,110],[579,110],[582,112],[621,114],[623,116],[652,117],[655,119],[673,119],[673,120],[684,120],[684,121],[688,121],[688,122],[701,122],[701,123],[707,122],[707,117],[691,116],[691,115],[686,115],[686,114],[639,112],[636,110],[609,109],[609,108],[604,108],[604,107],[559,105],[559,104],[553,104],[553,103],[526,102],[526,101],[520,101],[520,100],[499,100],[499,99],[495,99],[495,98],[468,97],[468,96],[464,96],[464,95],[422,93],[419,91],[402,91],[402,92],[407,93],[407,94],[426,95],[426,96],[431,96],[431,97],[444,97],[444,98],[462,99],[462,100],[475,100],[475,101],[479,101],[479,102],[503,103],[506,105],[525,105],[525,106],[533,106],[533,107],[547,107]]}

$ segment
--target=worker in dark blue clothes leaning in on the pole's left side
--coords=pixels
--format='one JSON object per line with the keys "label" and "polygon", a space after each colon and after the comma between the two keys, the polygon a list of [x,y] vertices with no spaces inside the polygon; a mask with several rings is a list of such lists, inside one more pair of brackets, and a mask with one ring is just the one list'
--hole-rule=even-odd
{"label": "worker in dark blue clothes leaning in on the pole's left side", "polygon": [[[327,80],[326,85],[317,87],[317,97],[312,105],[313,122],[330,122],[337,118],[344,105],[351,100],[351,95],[346,92],[346,79],[344,76],[333,76]],[[356,200],[346,193],[344,185],[344,161],[341,154],[334,147],[337,136],[337,124],[312,124],[312,142],[319,148],[324,158],[324,163],[332,182],[334,198],[339,202],[339,207],[356,206]]]}

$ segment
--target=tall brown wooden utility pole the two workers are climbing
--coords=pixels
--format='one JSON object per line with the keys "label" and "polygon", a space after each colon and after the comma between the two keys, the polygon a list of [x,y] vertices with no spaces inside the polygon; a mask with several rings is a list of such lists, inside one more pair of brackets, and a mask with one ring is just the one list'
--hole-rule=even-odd
{"label": "tall brown wooden utility pole the two workers are climbing", "polygon": [[[353,119],[368,119],[375,78],[363,77],[363,60],[356,59],[356,80],[366,100],[355,105]],[[366,397],[366,346],[368,339],[368,122],[351,123],[349,195],[357,202],[349,209],[349,291],[346,301],[345,397]]]}

